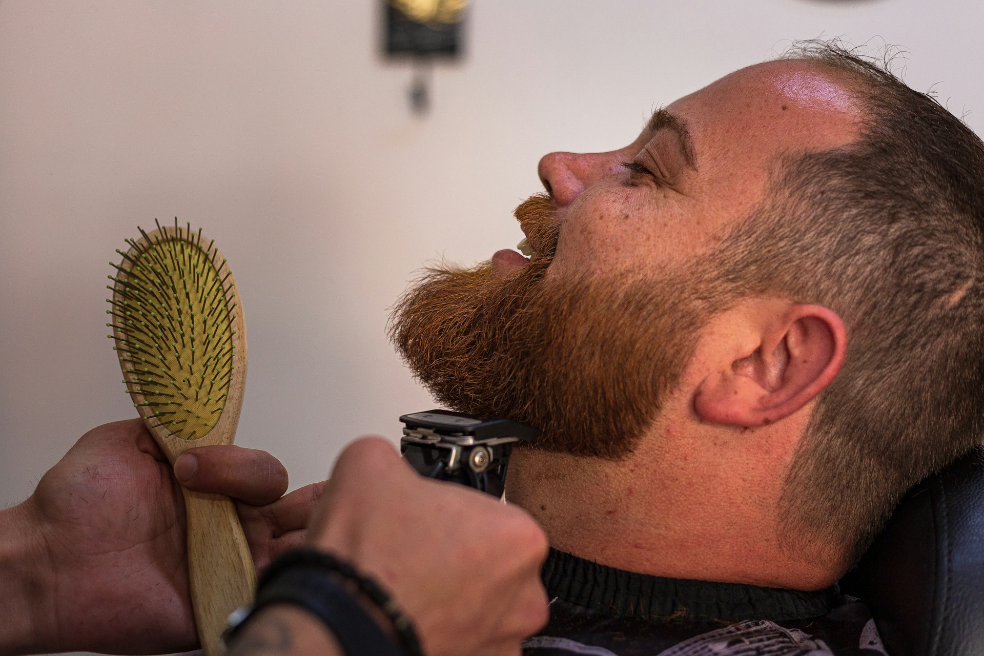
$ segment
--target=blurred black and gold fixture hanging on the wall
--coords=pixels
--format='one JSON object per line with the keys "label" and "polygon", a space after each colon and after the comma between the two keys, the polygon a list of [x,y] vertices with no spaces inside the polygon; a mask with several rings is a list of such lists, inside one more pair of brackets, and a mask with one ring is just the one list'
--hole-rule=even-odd
{"label": "blurred black and gold fixture hanging on the wall", "polygon": [[425,114],[430,107],[433,62],[458,59],[461,31],[469,0],[383,0],[386,55],[409,59],[413,68],[410,107]]}

